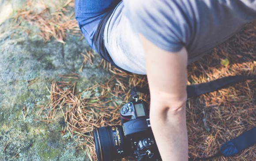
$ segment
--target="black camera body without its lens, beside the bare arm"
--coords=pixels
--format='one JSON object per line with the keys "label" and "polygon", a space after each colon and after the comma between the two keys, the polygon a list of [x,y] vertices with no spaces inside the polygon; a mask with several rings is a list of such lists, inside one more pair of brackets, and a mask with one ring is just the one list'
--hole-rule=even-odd
{"label": "black camera body without its lens, beside the bare arm", "polygon": [[154,140],[147,102],[135,99],[120,110],[124,136],[131,141],[133,157],[138,160],[160,161],[161,157]]}

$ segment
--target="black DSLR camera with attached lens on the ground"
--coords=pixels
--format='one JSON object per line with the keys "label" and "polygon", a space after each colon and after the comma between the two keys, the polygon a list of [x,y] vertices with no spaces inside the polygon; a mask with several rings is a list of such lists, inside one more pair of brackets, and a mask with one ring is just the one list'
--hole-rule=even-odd
{"label": "black DSLR camera with attached lens on the ground", "polygon": [[133,157],[138,161],[162,161],[155,143],[147,102],[134,99],[120,110],[121,125],[93,130],[98,161]]}

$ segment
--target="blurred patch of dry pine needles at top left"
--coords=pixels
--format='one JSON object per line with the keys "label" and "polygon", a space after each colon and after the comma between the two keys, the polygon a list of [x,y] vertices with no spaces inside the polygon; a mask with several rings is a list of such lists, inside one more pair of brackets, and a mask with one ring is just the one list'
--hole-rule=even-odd
{"label": "blurred patch of dry pine needles at top left", "polygon": [[29,22],[39,27],[39,35],[45,42],[54,37],[56,41],[65,44],[67,32],[81,35],[74,19],[73,7],[73,0],[67,0],[66,3],[58,7],[54,3],[51,5],[45,4],[43,0],[39,2],[28,0],[26,6],[19,10],[14,18],[15,22],[17,22],[15,27],[23,28],[29,34],[30,29],[21,26],[23,21]]}

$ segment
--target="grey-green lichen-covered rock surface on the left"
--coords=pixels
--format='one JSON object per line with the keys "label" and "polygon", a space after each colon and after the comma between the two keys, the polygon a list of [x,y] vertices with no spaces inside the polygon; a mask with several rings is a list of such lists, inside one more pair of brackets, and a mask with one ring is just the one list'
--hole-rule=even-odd
{"label": "grey-green lichen-covered rock surface on the left", "polygon": [[[59,79],[59,74],[79,73],[83,64],[80,53],[90,47],[80,36],[71,34],[66,44],[54,40],[45,43],[35,26],[28,25],[35,31],[28,35],[14,25],[12,20],[0,25],[0,161],[89,160],[86,150],[70,148],[74,138],[61,134],[65,123],[60,114],[50,124],[35,121],[39,117],[35,104],[49,102],[47,87],[51,80]],[[77,80],[80,89],[109,79],[111,74],[98,69],[100,61],[95,55],[93,65],[84,65]],[[26,117],[24,106],[28,109]]]}

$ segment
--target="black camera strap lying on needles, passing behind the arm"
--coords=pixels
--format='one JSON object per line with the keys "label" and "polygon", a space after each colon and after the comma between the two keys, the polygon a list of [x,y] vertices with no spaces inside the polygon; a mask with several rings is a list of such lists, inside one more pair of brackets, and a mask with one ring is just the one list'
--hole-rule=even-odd
{"label": "black camera strap lying on needles, passing behind the arm", "polygon": [[[187,95],[188,98],[191,98],[209,93],[211,91],[217,91],[234,83],[254,79],[256,79],[256,76],[230,76],[223,77],[207,83],[187,85]],[[131,89],[131,96],[133,99],[139,98],[139,96],[137,95],[137,91],[141,93],[150,94],[148,87],[134,87]],[[211,157],[189,158],[189,161],[206,161],[219,156],[230,157],[254,144],[256,144],[256,127],[248,130],[247,132],[237,136],[234,139],[227,141],[226,143],[223,143],[222,146],[220,147],[220,150],[215,155]]]}

